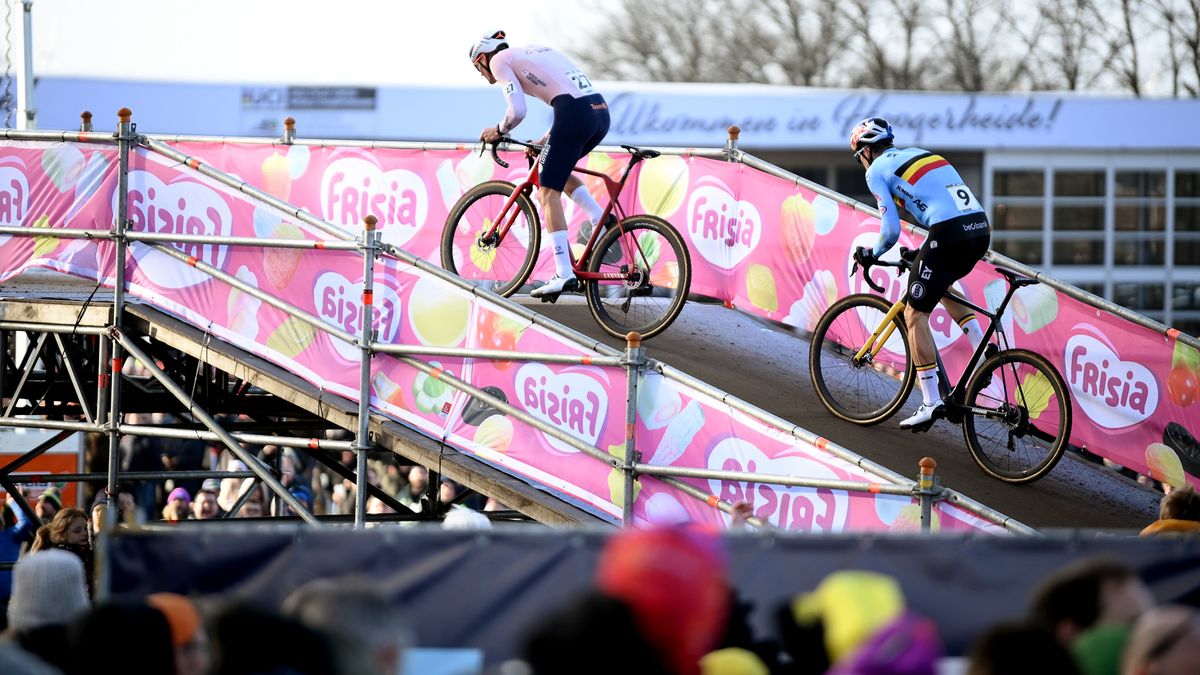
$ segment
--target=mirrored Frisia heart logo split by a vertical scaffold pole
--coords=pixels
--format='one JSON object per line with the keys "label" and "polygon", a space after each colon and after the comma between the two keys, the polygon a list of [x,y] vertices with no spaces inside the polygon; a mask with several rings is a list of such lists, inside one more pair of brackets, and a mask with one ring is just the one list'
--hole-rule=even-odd
{"label": "mirrored Frisia heart logo split by a vertical scaffold pole", "polygon": [[[376,285],[374,329],[376,341],[394,342],[400,333],[400,295],[388,286]],[[360,336],[362,330],[362,285],[352,282],[336,271],[326,271],[317,277],[312,288],[312,303],[317,316],[330,325]],[[362,358],[362,350],[338,338],[330,338],[334,350],[348,362]]]}

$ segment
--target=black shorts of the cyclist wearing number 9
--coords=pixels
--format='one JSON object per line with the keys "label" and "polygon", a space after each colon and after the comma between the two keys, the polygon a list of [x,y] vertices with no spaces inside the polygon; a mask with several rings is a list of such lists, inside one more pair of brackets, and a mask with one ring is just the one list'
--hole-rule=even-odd
{"label": "black shorts of the cyclist wearing number 9", "polygon": [[908,305],[931,312],[950,285],[974,269],[991,244],[988,214],[967,214],[929,228],[908,271]]}

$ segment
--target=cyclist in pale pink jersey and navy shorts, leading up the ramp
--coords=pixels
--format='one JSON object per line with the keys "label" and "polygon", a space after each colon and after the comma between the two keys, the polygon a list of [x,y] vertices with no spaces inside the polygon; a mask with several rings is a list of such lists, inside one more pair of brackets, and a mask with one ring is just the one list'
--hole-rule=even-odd
{"label": "cyclist in pale pink jersey and navy shorts, leading up the ramp", "polygon": [[[581,157],[608,133],[608,103],[592,86],[592,80],[570,59],[550,47],[509,47],[504,31],[487,35],[470,48],[470,61],[490,84],[504,85],[508,109],[496,126],[485,129],[479,139],[494,143],[511,132],[526,117],[524,95],[536,96],[554,108],[554,121],[542,137],[540,189],[538,198],[554,247],[554,276],[535,288],[535,298],[578,288],[571,268],[563,190],[587,214],[594,226],[604,209],[571,173]],[[611,215],[610,223],[616,221]]]}

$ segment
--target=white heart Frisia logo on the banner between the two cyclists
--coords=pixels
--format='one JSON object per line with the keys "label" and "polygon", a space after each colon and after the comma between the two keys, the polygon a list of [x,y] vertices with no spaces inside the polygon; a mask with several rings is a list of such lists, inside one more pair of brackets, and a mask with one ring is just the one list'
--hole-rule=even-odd
{"label": "white heart Frisia logo on the banner between the two cyclists", "polygon": [[706,261],[733,269],[762,239],[762,219],[750,202],[733,197],[725,184],[702,179],[688,197],[688,234]]}

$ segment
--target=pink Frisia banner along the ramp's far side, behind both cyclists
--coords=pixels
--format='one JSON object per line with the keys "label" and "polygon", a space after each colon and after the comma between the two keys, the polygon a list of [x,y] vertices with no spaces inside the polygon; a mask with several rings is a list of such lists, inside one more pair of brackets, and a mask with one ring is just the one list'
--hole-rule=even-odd
{"label": "pink Frisia banner along the ramp's far side, behind both cyclists", "polygon": [[[347,228],[373,213],[385,239],[434,263],[445,214],[462,192],[484,180],[520,183],[526,174],[520,155],[510,154],[512,168],[500,169],[478,147],[179,147]],[[617,177],[626,161],[593,153],[582,165]],[[601,196],[594,180],[589,189]],[[578,240],[583,215],[564,202]],[[740,163],[665,155],[638,166],[622,205],[672,222],[691,251],[691,292],[731,307],[811,330],[836,299],[870,292],[850,274],[851,252],[874,244],[878,220],[790,180]],[[914,247],[922,237],[906,228],[900,244]],[[534,277],[552,274],[548,261],[540,256]],[[904,280],[889,270],[875,274],[887,282],[888,299],[896,299]],[[995,309],[1006,283],[984,263],[958,288]],[[1067,382],[1073,444],[1172,485],[1200,484],[1200,425],[1188,410],[1200,399],[1200,352],[1177,333],[1159,334],[1045,285],[1018,291],[1004,322],[1010,344],[1048,357]],[[970,357],[967,341],[941,307],[931,323],[943,362],[958,376]]]}

